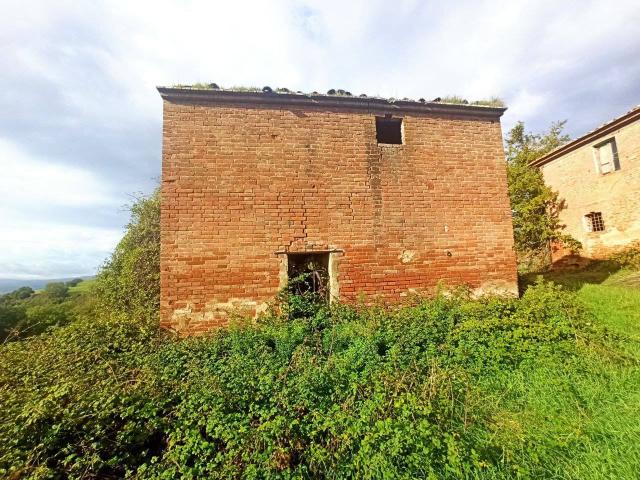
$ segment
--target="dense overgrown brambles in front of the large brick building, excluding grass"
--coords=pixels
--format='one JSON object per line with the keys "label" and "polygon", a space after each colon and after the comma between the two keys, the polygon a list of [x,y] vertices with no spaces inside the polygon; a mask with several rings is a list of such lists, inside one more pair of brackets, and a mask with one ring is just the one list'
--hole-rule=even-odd
{"label": "dense overgrown brambles in front of the large brick building, excluding grass", "polygon": [[[281,300],[257,324],[200,338],[165,336],[144,314],[109,315],[4,346],[0,475],[515,474],[527,446],[489,434],[501,419],[483,401],[487,379],[574,361],[606,338],[552,284],[520,300],[393,310]],[[543,453],[528,471],[543,468]]]}

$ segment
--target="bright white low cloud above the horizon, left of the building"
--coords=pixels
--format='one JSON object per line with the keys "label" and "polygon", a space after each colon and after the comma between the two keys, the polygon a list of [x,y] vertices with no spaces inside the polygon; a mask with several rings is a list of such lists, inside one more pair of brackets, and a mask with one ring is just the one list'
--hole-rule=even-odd
{"label": "bright white low cloud above the horizon, left of the building", "polygon": [[[0,278],[86,275],[120,229],[61,221],[64,213],[121,204],[92,172],[27,155],[0,138]],[[56,216],[58,218],[56,218]]]}

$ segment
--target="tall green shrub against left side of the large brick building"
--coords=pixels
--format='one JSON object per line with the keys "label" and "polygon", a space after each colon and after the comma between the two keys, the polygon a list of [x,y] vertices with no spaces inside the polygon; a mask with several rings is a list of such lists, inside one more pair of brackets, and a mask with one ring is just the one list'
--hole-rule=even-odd
{"label": "tall green shrub against left side of the large brick building", "polygon": [[103,312],[157,319],[160,304],[160,192],[139,197],[131,219],[96,279]]}

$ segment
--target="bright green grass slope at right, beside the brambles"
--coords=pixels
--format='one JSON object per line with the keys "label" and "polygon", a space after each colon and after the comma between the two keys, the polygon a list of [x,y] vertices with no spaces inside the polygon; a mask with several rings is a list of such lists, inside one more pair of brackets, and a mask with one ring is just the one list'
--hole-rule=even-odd
{"label": "bright green grass slope at right, beside the brambles", "polygon": [[[566,457],[549,477],[640,478],[640,272],[605,263],[543,276],[577,292],[597,325],[620,339],[612,352],[594,351],[590,368],[578,376],[557,365],[534,370],[521,383],[511,379],[526,400],[502,401],[505,417],[541,444],[566,444]],[[613,361],[620,356],[626,361]]]}

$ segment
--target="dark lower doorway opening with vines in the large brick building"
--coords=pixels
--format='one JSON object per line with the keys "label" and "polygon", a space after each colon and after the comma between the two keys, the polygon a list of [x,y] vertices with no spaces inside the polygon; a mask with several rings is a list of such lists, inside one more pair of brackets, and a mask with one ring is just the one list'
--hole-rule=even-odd
{"label": "dark lower doorway opening with vines in the large brick building", "polygon": [[329,253],[287,255],[289,291],[295,295],[315,293],[329,299]]}

